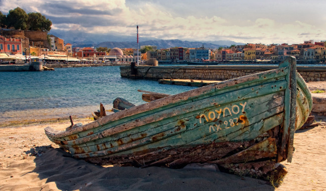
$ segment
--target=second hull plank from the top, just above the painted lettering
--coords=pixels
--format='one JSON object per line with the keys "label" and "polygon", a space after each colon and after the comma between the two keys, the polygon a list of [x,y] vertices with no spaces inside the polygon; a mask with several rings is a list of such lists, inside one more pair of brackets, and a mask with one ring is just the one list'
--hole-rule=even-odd
{"label": "second hull plank from the top, just above the painted lettering", "polygon": [[[253,98],[253,97],[262,96],[262,95],[266,95],[266,94],[273,93],[273,92],[282,91],[284,89],[284,85],[286,85],[286,82],[280,81],[280,82],[274,83],[274,84],[271,83],[271,84],[259,85],[259,86],[246,88],[246,89],[240,89],[238,91],[225,93],[225,94],[218,95],[215,97],[206,98],[206,99],[199,100],[196,102],[184,104],[179,107],[174,107],[174,108],[167,109],[164,111],[156,112],[155,115],[144,116],[142,118],[127,121],[120,125],[115,125],[114,123],[113,124],[108,123],[104,126],[99,126],[99,128],[95,128],[92,131],[84,131],[84,132],[78,133],[78,134],[76,134],[76,138],[78,139],[79,137],[82,138],[82,137],[87,136],[81,142],[97,139],[98,136],[101,136],[101,138],[103,138],[105,136],[110,136],[112,134],[126,131],[128,129],[132,129],[137,126],[142,126],[144,124],[148,124],[151,122],[160,121],[167,117],[177,116],[177,115],[180,115],[181,113],[191,112],[191,111],[195,111],[195,110],[199,110],[199,109],[206,109],[206,108],[210,108],[210,107],[214,108],[218,105],[223,106],[225,104],[228,104],[228,103],[231,103],[231,102],[234,102],[237,100],[245,100],[248,98]],[[242,95],[242,96],[239,96],[239,95]],[[123,121],[123,120],[121,120],[121,121]],[[61,140],[65,141],[65,140],[70,140],[71,138],[72,137],[64,137]],[[73,144],[80,144],[80,141],[77,141],[76,143],[73,143]]]}

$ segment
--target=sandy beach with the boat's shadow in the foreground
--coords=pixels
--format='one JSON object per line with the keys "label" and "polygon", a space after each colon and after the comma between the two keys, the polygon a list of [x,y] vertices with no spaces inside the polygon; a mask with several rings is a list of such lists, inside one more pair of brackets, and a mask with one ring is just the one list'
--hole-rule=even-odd
{"label": "sandy beach with the boat's shadow in the foreground", "polygon": [[[326,117],[316,115],[315,121]],[[204,168],[94,165],[72,158],[45,135],[45,127],[64,130],[69,119],[7,124],[0,127],[0,190],[326,190],[326,125],[321,124],[296,131],[292,162],[282,162],[288,173],[278,187]]]}

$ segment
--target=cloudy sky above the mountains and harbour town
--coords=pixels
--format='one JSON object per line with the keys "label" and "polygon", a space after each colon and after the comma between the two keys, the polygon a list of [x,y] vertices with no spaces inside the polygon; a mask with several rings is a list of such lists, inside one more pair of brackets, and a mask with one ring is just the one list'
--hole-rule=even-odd
{"label": "cloudy sky above the mountains and harbour town", "polygon": [[323,0],[0,0],[0,11],[39,12],[52,29],[187,41],[302,43],[326,40]]}

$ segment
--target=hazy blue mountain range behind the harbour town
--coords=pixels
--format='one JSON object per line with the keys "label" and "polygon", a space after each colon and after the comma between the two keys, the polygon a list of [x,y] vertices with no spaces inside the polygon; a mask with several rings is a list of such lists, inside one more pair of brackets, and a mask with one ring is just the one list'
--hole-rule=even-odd
{"label": "hazy blue mountain range behind the harbour town", "polygon": [[[137,48],[136,36],[124,36],[121,34],[90,34],[80,31],[62,31],[51,30],[51,35],[59,37],[65,43],[72,44],[73,47],[107,47],[107,48]],[[140,46],[152,45],[157,49],[171,47],[199,48],[204,45],[205,48],[218,49],[219,47],[229,47],[231,45],[243,45],[234,41],[202,41],[191,42],[181,40],[161,40],[155,38],[140,38]]]}

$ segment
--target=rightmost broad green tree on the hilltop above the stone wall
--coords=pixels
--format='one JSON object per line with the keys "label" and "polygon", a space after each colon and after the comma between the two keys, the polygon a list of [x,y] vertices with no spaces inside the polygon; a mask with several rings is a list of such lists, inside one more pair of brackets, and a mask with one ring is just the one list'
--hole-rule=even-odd
{"label": "rightmost broad green tree on the hilltop above the stone wall", "polygon": [[40,13],[29,13],[27,20],[27,29],[31,31],[45,31],[51,30],[52,22],[45,18]]}

